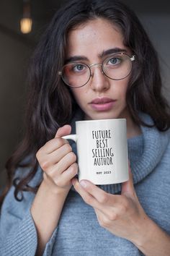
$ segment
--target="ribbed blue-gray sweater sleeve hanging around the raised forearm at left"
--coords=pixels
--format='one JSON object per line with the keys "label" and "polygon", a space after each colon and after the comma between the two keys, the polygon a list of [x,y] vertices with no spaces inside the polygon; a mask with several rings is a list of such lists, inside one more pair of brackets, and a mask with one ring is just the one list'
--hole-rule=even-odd
{"label": "ribbed blue-gray sweater sleeve hanging around the raised forearm at left", "polygon": [[[37,249],[37,231],[30,213],[35,195],[24,192],[19,202],[14,198],[14,187],[9,190],[1,208],[0,255],[34,256]],[[46,244],[43,256],[52,255],[57,229]]]}

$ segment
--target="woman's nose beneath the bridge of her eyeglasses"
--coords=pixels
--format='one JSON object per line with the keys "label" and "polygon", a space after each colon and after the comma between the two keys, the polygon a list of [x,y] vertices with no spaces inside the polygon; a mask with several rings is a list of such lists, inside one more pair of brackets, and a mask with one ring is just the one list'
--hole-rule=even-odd
{"label": "woman's nose beneath the bridge of her eyeglasses", "polygon": [[[94,67],[97,66],[97,67]],[[109,81],[102,72],[102,64],[91,64],[91,88],[95,91],[108,90]]]}

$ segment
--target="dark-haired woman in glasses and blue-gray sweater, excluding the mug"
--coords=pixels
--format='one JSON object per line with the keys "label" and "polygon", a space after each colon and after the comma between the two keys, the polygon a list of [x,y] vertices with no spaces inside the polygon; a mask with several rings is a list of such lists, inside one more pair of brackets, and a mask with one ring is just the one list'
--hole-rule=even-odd
{"label": "dark-haired woman in glasses and blue-gray sweater, excluding the mug", "polygon": [[[129,181],[79,183],[62,137],[76,120],[122,117]],[[170,255],[169,120],[135,14],[117,0],[61,8],[32,59],[27,133],[6,166],[1,255]]]}

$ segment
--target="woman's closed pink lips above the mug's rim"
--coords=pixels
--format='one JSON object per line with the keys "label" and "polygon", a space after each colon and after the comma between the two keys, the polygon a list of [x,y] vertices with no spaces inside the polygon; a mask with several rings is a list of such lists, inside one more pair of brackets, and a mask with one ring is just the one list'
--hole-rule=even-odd
{"label": "woman's closed pink lips above the mug's rim", "polygon": [[97,111],[109,111],[115,104],[112,98],[95,98],[91,101],[91,108]]}

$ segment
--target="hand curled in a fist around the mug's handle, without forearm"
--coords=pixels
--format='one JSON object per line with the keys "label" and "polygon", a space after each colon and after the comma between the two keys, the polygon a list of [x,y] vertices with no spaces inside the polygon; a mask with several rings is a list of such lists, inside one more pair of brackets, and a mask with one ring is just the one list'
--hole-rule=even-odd
{"label": "hand curled in a fist around the mug's handle, without forearm", "polygon": [[59,128],[55,138],[48,141],[36,154],[37,161],[44,171],[43,182],[54,192],[68,192],[72,185],[71,179],[78,172],[76,155],[68,141],[62,138],[70,133],[69,125]]}

